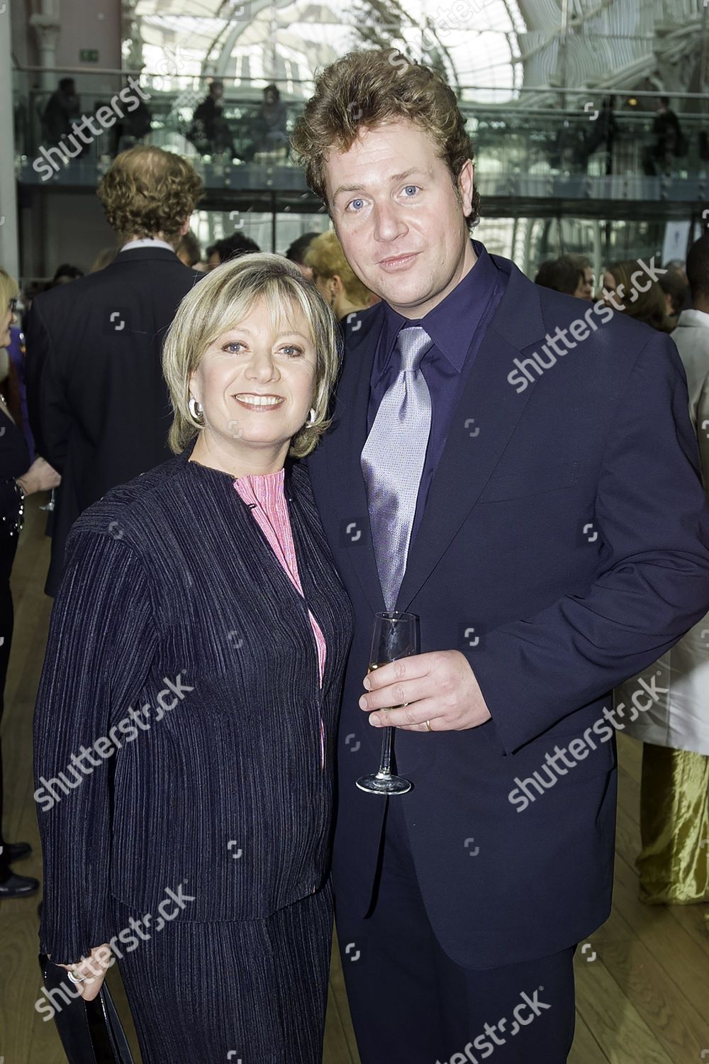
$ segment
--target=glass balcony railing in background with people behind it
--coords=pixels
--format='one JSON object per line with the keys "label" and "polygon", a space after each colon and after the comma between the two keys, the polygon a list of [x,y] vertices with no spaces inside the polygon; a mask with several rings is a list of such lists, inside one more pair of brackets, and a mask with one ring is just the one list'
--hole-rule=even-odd
{"label": "glass balcony railing in background with people behind it", "polygon": [[[277,168],[278,187],[305,188],[293,167],[288,135],[311,85],[281,86],[281,99],[264,101],[263,82],[225,83],[218,107],[204,104],[207,82],[200,78],[139,77],[117,71],[82,71],[73,96],[28,84],[15,72],[15,159],[18,177],[30,183],[92,184],[117,152],[150,143],[192,160],[207,187],[264,186],[263,168]],[[65,78],[72,77],[70,71]],[[494,181],[575,178],[704,179],[709,174],[709,100],[686,94],[673,98],[679,132],[658,122],[656,96],[608,95],[588,89],[520,92],[501,104],[470,102],[479,87],[460,93],[475,149],[477,174]],[[492,90],[489,90],[492,93]],[[635,100],[635,103],[630,101]],[[75,130],[75,132],[73,132]],[[247,171],[253,171],[252,178]],[[239,172],[240,171],[240,172]],[[284,184],[285,182],[285,184]],[[255,185],[254,185],[255,187]],[[547,193],[548,194],[548,193]]]}

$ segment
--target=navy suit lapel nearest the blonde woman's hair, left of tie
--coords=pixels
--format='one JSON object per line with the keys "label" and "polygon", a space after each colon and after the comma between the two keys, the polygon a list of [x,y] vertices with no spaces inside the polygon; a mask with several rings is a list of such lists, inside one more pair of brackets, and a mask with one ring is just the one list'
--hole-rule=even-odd
{"label": "navy suit lapel nearest the blonde woman's hair, left of tie", "polygon": [[[372,547],[367,492],[359,455],[367,438],[367,409],[372,363],[384,321],[384,304],[377,303],[348,328],[344,364],[337,386],[333,425],[316,452],[327,465],[326,483],[338,485],[320,506],[337,555],[345,558],[373,613],[385,609]],[[332,489],[332,487],[331,487]]]}

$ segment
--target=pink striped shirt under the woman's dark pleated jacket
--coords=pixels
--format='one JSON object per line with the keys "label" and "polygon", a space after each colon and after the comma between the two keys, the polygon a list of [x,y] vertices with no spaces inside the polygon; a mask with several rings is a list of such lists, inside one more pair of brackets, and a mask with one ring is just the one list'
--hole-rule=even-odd
{"label": "pink striped shirt under the woman's dark pleated jacket", "polygon": [[[296,559],[296,547],[293,544],[293,533],[290,528],[290,517],[288,515],[288,503],[283,492],[284,470],[268,472],[260,476],[239,477],[234,481],[234,487],[243,501],[253,506],[252,514],[258,521],[259,528],[269,542],[273,553],[283,566],[290,582],[293,584],[299,595],[303,595],[303,586],[298,573],[298,561]],[[255,505],[254,505],[255,503]],[[320,630],[318,621],[308,610],[310,627],[315,636],[318,650],[318,668],[320,672],[320,686],[325,668],[325,637]],[[321,767],[325,764],[325,734],[322,720],[320,721],[320,752]]]}

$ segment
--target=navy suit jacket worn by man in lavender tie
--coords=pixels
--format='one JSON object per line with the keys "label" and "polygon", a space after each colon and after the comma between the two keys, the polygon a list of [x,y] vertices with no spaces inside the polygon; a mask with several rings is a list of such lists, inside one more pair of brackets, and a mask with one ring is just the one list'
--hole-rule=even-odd
{"label": "navy suit jacket worn by man in lavender tie", "polygon": [[[607,918],[617,771],[604,709],[709,605],[708,512],[674,344],[620,313],[602,325],[607,310],[493,259],[509,281],[396,603],[420,616],[422,651],[466,655],[492,719],[396,731],[398,768],[413,782],[402,797],[355,786],[378,764],[382,738],[357,704],[384,609],[359,464],[382,304],[349,330],[333,427],[309,459],[356,617],[338,741],[337,896],[368,909],[386,804],[401,802],[434,930],[473,968],[553,953]],[[575,346],[558,358],[542,351],[547,332],[585,315],[586,338],[568,334]],[[535,352],[548,368],[528,366],[527,380],[514,360]],[[575,754],[555,753],[573,739]]]}

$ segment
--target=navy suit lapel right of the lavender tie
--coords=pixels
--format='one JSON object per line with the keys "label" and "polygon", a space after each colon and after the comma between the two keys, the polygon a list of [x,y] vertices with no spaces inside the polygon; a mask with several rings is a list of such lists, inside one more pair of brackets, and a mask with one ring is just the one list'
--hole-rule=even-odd
{"label": "navy suit lapel right of the lavender tie", "polygon": [[[493,259],[496,256],[492,256]],[[502,260],[507,266],[507,262]],[[543,337],[539,296],[511,264],[505,294],[478,349],[449,429],[396,600],[406,610],[474,506],[534,388],[507,380],[513,360]]]}

